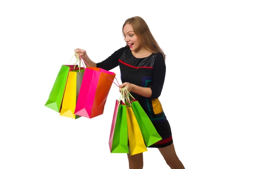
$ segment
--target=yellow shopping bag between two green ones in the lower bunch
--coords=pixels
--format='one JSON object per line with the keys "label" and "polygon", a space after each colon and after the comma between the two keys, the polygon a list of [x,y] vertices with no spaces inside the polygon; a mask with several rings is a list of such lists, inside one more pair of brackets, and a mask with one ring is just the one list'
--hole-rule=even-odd
{"label": "yellow shopping bag between two green ones in the lower bunch", "polygon": [[140,126],[136,120],[134,112],[130,106],[126,107],[127,125],[128,125],[128,140],[130,155],[136,155],[148,151],[143,140]]}

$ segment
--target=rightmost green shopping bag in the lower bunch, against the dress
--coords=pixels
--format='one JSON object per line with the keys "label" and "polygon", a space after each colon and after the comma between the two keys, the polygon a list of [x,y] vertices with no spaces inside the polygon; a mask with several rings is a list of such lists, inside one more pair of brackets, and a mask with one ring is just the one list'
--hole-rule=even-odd
{"label": "rightmost green shopping bag in the lower bunch, against the dress", "polygon": [[157,141],[162,140],[162,137],[158,134],[153,123],[151,122],[150,118],[141,107],[140,103],[134,99],[134,97],[131,95],[130,92],[128,92],[126,88],[125,92],[128,96],[128,99],[131,100],[131,108],[133,109],[134,115],[140,126],[140,130],[143,135],[145,145],[149,147],[152,144],[157,143]]}

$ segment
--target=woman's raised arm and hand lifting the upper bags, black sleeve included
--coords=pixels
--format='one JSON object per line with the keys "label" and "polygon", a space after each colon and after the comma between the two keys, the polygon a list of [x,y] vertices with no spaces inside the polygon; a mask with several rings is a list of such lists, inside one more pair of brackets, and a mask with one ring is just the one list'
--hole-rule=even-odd
{"label": "woman's raised arm and hand lifting the upper bags, black sleeve included", "polygon": [[[122,48],[118,49],[113,54],[111,54],[111,56],[109,56],[107,59],[103,60],[100,63],[95,63],[92,60],[90,60],[90,58],[86,54],[86,51],[83,49],[75,49],[74,51],[76,53],[79,53],[81,58],[83,58],[88,63],[88,65],[90,67],[102,68],[102,69],[109,71],[109,70],[115,68],[116,66],[118,66],[118,60],[126,48],[127,47],[122,47]],[[86,67],[87,67],[87,65],[86,65]]]}

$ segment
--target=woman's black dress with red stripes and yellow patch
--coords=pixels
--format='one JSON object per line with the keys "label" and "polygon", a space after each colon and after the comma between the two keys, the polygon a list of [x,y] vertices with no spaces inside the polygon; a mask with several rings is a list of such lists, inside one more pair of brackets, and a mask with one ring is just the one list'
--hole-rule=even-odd
{"label": "woman's black dress with red stripes and yellow patch", "polygon": [[138,100],[157,132],[162,137],[162,140],[150,147],[161,148],[171,145],[171,127],[158,99],[163,89],[166,74],[163,54],[153,53],[148,57],[137,58],[131,53],[130,48],[125,46],[102,62],[96,63],[96,66],[108,71],[119,66],[122,83],[129,82],[137,86],[151,88],[152,95],[150,98],[132,92],[131,95]]}

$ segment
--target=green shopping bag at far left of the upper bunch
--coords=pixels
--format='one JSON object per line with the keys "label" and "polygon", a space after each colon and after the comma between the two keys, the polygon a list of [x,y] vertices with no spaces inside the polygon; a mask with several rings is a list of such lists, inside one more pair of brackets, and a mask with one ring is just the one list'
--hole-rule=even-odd
{"label": "green shopping bag at far left of the upper bunch", "polygon": [[78,65],[62,65],[52,86],[52,90],[49,94],[49,98],[44,106],[60,112],[62,100],[64,96],[64,90],[67,83],[67,77],[71,70],[80,69]]}

